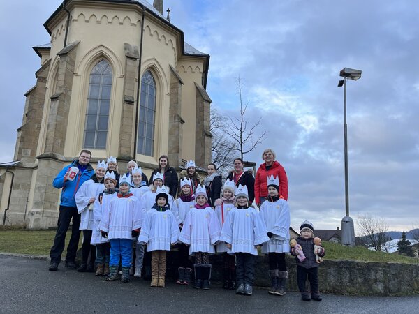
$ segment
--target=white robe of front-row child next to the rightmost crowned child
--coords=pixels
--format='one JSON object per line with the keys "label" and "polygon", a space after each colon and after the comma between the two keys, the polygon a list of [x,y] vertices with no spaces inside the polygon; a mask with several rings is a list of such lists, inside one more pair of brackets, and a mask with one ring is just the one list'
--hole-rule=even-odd
{"label": "white robe of front-row child next to the rightmost crowned child", "polygon": [[230,210],[223,229],[220,241],[231,244],[228,253],[250,253],[258,255],[256,246],[269,241],[267,230],[260,214],[253,207],[248,209]]}

